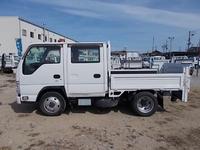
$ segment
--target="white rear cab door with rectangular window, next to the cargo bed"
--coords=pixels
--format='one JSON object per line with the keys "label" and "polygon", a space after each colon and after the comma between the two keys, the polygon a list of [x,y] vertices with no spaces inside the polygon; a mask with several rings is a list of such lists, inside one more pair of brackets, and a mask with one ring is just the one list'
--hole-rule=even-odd
{"label": "white rear cab door with rectangular window, next to the cargo bed", "polygon": [[105,96],[103,55],[103,44],[68,44],[68,96]]}

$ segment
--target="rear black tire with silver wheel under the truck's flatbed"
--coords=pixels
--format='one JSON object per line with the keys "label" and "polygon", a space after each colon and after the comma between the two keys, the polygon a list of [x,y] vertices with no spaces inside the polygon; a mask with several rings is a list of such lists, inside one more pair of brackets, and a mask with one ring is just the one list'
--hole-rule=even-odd
{"label": "rear black tire with silver wheel under the truck's flatbed", "polygon": [[150,92],[139,92],[132,99],[131,107],[138,115],[147,117],[157,111],[158,101]]}

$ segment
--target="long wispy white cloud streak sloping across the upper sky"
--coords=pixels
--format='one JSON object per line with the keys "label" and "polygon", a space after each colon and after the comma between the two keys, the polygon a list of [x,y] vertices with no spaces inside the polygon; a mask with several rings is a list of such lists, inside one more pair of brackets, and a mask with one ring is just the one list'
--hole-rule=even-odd
{"label": "long wispy white cloud streak sloping across the upper sky", "polygon": [[31,0],[54,6],[68,14],[121,21],[143,21],[181,28],[200,28],[200,15],[153,9],[145,6],[95,0]]}

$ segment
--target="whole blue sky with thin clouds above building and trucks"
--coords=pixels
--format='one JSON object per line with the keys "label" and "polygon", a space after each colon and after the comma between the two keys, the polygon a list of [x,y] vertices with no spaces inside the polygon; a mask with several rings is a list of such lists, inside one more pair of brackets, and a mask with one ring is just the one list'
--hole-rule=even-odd
{"label": "whole blue sky with thin clouds above building and trucks", "polygon": [[1,16],[20,16],[78,41],[108,41],[113,50],[161,50],[169,36],[184,50],[200,39],[199,0],[1,0]]}

